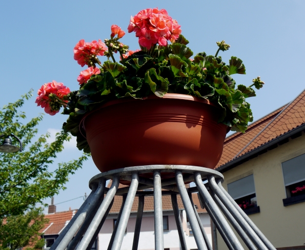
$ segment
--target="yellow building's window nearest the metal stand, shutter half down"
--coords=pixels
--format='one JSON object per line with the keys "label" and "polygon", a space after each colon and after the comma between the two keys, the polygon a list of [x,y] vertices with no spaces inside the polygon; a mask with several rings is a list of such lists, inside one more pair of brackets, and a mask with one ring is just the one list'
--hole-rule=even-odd
{"label": "yellow building's window nearest the metal stand, shutter half down", "polygon": [[229,183],[228,193],[246,214],[259,213],[253,175]]}

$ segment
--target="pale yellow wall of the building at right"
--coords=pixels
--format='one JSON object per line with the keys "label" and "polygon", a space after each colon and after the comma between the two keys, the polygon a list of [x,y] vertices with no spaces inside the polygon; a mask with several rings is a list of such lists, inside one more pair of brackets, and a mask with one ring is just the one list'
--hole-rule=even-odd
{"label": "pale yellow wall of the building at right", "polygon": [[[225,181],[222,186],[226,190],[228,183],[253,172],[260,213],[249,217],[275,247],[305,244],[305,202],[283,206],[282,199],[287,196],[281,166],[282,162],[303,153],[305,153],[305,135],[302,133],[301,137],[289,139],[288,143],[223,172]],[[238,239],[242,242],[239,236]],[[228,249],[218,232],[217,245],[218,250]],[[248,249],[243,242],[242,245]]]}

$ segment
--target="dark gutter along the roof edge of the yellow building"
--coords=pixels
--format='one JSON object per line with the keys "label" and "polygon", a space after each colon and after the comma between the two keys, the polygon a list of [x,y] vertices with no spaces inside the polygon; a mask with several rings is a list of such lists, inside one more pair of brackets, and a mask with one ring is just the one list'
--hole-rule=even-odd
{"label": "dark gutter along the roof edge of the yellow building", "polygon": [[255,149],[251,150],[250,152],[245,153],[245,155],[242,155],[242,156],[226,163],[225,165],[222,165],[222,166],[216,168],[215,170],[217,170],[221,173],[225,172],[225,171],[228,171],[229,169],[235,167],[236,165],[239,165],[242,162],[245,162],[245,161],[249,160],[248,158],[250,158],[251,156],[254,156],[257,153],[259,153],[259,152],[261,152],[265,149],[268,149],[269,147],[274,146],[274,145],[280,143],[281,141],[283,141],[285,139],[288,139],[288,138],[294,136],[296,133],[299,133],[303,130],[305,130],[305,123],[296,127],[296,128],[294,128],[294,129],[292,129],[292,130],[290,130],[290,131],[288,131],[288,132],[286,132],[286,133],[284,133],[284,134],[282,134],[281,136],[279,136],[275,139],[272,139],[271,141],[255,148]]}

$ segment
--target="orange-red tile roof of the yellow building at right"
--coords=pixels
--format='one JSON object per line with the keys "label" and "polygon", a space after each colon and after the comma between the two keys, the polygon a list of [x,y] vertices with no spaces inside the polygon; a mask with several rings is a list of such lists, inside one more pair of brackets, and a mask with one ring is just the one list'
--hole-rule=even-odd
{"label": "orange-red tile roof of the yellow building at right", "polygon": [[215,169],[305,124],[304,104],[305,90],[291,103],[252,123],[246,133],[236,132],[226,138]]}

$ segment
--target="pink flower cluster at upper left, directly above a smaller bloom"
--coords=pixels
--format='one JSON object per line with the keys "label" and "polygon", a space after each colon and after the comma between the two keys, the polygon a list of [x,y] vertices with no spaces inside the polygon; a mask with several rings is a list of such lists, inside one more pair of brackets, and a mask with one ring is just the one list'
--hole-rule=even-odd
{"label": "pink flower cluster at upper left, directly above a smaller bloom", "polygon": [[100,39],[98,42],[92,41],[91,43],[87,43],[82,39],[74,47],[74,60],[82,67],[86,64],[91,66],[91,60],[94,60],[97,55],[104,55],[106,50],[108,50],[107,46]]}

